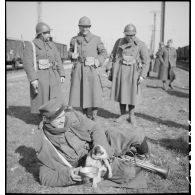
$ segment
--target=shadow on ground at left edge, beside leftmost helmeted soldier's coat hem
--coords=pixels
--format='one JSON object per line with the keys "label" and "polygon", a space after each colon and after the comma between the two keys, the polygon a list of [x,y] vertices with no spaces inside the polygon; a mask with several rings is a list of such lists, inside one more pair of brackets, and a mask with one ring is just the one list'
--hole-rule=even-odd
{"label": "shadow on ground at left edge, beside leftmost helmeted soldier's coat hem", "polygon": [[30,107],[28,106],[9,106],[7,114],[23,120],[27,124],[38,125],[41,122],[41,117],[37,114],[31,114]]}

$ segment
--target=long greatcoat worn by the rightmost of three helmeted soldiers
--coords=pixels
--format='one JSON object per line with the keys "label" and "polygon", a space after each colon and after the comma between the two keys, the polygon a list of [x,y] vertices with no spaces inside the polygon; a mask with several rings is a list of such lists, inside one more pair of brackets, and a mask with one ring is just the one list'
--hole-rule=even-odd
{"label": "long greatcoat worn by the rightmost of three helmeted soldiers", "polygon": [[[122,55],[132,56],[136,63],[132,66],[122,64]],[[111,99],[121,104],[136,105],[141,101],[141,87],[138,85],[138,77],[146,77],[149,68],[149,52],[145,44],[138,38],[127,43],[124,38],[118,39],[111,53],[112,90]],[[138,67],[138,62],[142,68]]]}

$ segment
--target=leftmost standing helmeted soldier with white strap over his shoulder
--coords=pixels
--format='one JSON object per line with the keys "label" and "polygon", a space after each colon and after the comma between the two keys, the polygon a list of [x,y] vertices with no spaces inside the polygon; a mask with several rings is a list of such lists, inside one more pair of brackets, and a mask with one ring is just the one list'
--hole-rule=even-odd
{"label": "leftmost standing helmeted soldier with white strap over his shoulder", "polygon": [[55,43],[50,41],[50,27],[40,22],[36,37],[24,48],[24,70],[30,82],[31,113],[39,114],[39,107],[53,97],[61,96],[60,82],[65,71]]}

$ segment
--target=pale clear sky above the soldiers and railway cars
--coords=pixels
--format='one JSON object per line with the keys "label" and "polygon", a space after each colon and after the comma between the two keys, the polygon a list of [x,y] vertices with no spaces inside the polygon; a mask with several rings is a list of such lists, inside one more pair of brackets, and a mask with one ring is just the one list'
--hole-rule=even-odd
{"label": "pale clear sky above the soldiers and railway cars", "polygon": [[[110,52],[115,41],[123,37],[124,27],[133,23],[137,37],[150,46],[153,11],[157,11],[155,50],[160,41],[161,2],[42,2],[41,19],[53,29],[54,41],[67,44],[78,33],[82,16],[91,20],[91,32],[100,36]],[[37,2],[6,2],[6,36],[24,40],[35,37],[38,21]],[[172,38],[174,46],[189,44],[189,2],[166,2],[165,42]]]}

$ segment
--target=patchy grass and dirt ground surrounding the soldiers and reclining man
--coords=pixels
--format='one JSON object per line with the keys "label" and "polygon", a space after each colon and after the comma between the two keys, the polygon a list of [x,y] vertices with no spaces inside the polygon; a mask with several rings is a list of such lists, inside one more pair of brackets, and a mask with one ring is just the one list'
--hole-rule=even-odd
{"label": "patchy grass and dirt ground surrounding the soldiers and reclining man", "polygon": [[[20,73],[7,74],[6,123],[6,192],[7,193],[94,193],[89,186],[46,187],[38,181],[37,130],[38,120],[30,114],[29,84]],[[10,75],[17,75],[9,79]],[[145,189],[102,188],[102,193],[182,193],[189,192],[189,72],[176,69],[174,90],[164,91],[161,82],[151,73],[142,86],[143,101],[136,108],[137,124],[148,137],[150,157],[167,167],[167,179],[144,171]],[[110,83],[105,79],[105,86]],[[98,122],[113,125],[119,116],[119,105],[109,100],[110,88],[104,88],[104,103]],[[62,85],[68,102],[70,70]],[[124,124],[127,122],[124,122]],[[128,125],[128,123],[127,123]]]}

